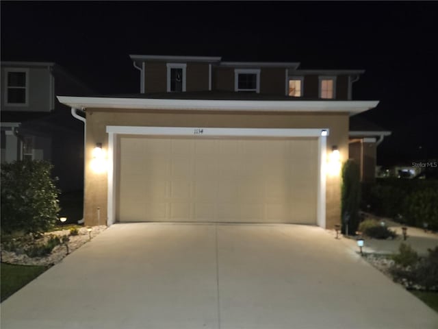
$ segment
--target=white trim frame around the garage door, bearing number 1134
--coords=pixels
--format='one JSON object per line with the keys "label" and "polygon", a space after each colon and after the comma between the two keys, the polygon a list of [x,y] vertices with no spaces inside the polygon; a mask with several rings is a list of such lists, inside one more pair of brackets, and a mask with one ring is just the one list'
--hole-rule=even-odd
{"label": "white trim frame around the garage door, bearing number 1134", "polygon": [[119,134],[140,136],[196,136],[197,138],[211,138],[216,136],[229,137],[317,137],[318,138],[318,195],[317,195],[317,223],[318,226],[326,227],[326,180],[324,164],[326,162],[326,136],[329,135],[327,128],[309,129],[285,129],[285,128],[210,128],[210,127],[138,127],[138,126],[115,126],[107,125],[108,133],[108,166],[107,166],[107,225],[116,221],[116,177],[114,166],[116,163],[115,149]]}

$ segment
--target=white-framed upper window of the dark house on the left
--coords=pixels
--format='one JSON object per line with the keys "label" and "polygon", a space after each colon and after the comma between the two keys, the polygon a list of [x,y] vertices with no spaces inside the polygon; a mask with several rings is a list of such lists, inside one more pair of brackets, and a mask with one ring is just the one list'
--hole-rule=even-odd
{"label": "white-framed upper window of the dark house on the left", "polygon": [[10,106],[27,106],[29,95],[29,70],[5,69],[5,101]]}

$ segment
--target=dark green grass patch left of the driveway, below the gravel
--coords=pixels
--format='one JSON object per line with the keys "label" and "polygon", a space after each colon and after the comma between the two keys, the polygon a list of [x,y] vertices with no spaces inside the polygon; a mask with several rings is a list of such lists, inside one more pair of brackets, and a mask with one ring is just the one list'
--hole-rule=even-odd
{"label": "dark green grass patch left of the driveway, below the gravel", "polygon": [[20,290],[26,284],[34,280],[47,266],[10,265],[0,263],[1,269],[1,300],[3,302],[10,295]]}

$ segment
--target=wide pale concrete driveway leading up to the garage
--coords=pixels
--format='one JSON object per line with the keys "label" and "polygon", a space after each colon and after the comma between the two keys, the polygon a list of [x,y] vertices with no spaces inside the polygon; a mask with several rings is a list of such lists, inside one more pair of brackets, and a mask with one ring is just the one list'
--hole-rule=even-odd
{"label": "wide pale concrete driveway leading up to the garage", "polygon": [[1,328],[438,328],[321,228],[117,224],[1,304]]}

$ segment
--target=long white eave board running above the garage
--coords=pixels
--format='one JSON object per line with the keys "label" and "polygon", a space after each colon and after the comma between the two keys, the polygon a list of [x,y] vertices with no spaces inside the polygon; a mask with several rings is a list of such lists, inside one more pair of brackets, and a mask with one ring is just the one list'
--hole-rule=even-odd
{"label": "long white eave board running above the garage", "polygon": [[151,99],[57,96],[70,108],[142,109],[142,110],[216,110],[253,112],[348,112],[350,115],[375,108],[378,101],[244,101],[215,99]]}

